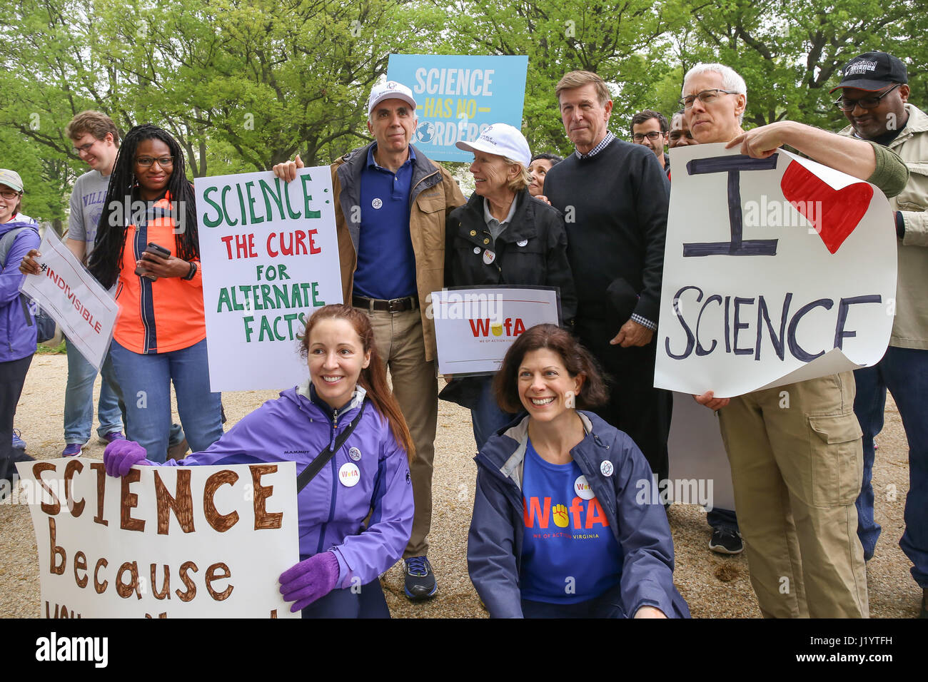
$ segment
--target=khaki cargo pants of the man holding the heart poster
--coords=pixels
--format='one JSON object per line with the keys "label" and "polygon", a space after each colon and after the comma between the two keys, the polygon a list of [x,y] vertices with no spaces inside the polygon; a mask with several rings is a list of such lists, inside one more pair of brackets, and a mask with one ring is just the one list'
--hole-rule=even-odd
{"label": "khaki cargo pants of the man holding the heart poster", "polygon": [[719,411],[735,509],[765,617],[868,617],[857,538],[863,449],[854,375],[732,398]]}

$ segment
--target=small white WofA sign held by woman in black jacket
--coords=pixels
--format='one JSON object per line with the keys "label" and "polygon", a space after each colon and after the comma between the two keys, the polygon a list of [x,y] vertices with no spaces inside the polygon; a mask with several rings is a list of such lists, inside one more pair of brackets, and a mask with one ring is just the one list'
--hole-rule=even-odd
{"label": "small white WofA sign held by woman in black jacket", "polygon": [[483,287],[432,291],[439,374],[492,374],[525,329],[560,324],[556,289]]}

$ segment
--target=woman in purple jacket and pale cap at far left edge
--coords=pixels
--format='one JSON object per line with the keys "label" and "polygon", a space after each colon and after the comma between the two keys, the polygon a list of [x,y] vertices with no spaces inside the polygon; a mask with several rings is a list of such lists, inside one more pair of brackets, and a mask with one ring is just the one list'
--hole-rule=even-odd
{"label": "woman in purple jacket and pale cap at far left edge", "polygon": [[41,241],[32,218],[19,212],[21,203],[19,174],[0,169],[0,499],[12,488],[14,463],[32,459],[13,449],[13,415],[36,339],[32,312],[19,296],[19,261]]}

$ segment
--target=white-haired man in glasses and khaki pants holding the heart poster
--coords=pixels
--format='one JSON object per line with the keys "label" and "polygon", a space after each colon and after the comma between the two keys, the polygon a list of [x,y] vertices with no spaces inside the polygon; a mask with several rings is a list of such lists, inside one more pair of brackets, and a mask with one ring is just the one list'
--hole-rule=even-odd
{"label": "white-haired man in glasses and khaki pants holding the heart poster", "polygon": [[[745,132],[747,86],[722,64],[690,69],[682,95],[684,119],[701,145],[725,142],[754,158],[789,145],[890,197],[908,180],[894,152],[864,140],[792,121]],[[789,407],[780,407],[784,391]],[[733,398],[715,398],[710,391],[696,400],[718,412],[761,612],[780,618],[867,617],[867,571],[854,506],[863,451],[853,373]],[[827,418],[818,418],[822,415]]]}

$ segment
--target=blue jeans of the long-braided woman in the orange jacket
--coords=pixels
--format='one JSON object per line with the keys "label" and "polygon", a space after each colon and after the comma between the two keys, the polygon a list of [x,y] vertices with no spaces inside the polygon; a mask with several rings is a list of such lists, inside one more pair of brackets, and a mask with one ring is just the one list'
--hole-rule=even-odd
{"label": "blue jeans of the long-braided woman in the orange jacket", "polygon": [[205,339],[156,354],[133,353],[113,341],[110,355],[125,400],[127,436],[146,449],[148,459],[163,462],[167,456],[172,382],[191,449],[200,452],[222,437],[222,393],[210,392]]}

